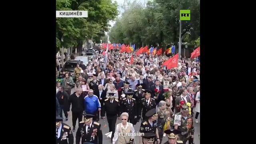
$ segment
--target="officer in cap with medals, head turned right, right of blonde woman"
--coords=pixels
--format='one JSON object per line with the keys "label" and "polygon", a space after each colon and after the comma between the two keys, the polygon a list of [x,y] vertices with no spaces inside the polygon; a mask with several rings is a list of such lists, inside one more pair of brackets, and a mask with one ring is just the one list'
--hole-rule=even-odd
{"label": "officer in cap with medals, head turned right, right of blonde woman", "polygon": [[[158,135],[158,130],[157,130],[157,119],[158,119],[158,114],[156,113],[156,108],[153,108],[149,110],[146,113],[146,120],[143,120],[140,124],[140,132],[141,133],[154,133],[156,134],[154,140],[157,141],[157,144],[160,143],[160,138]],[[140,137],[140,143],[142,142],[142,137]]]}

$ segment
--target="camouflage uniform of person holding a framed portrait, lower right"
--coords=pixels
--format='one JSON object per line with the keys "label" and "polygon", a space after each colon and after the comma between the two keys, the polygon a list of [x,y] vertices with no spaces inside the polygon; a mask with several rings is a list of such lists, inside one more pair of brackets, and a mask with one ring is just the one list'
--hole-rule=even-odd
{"label": "camouflage uniform of person holding a framed portrait, lower right", "polygon": [[[188,111],[188,106],[183,105],[182,110]],[[182,114],[178,112],[177,114]],[[171,120],[171,126],[174,128],[174,120]],[[193,119],[192,116],[188,114],[185,119],[183,116],[181,118],[181,125],[178,126],[178,130],[180,130],[181,134],[178,134],[178,140],[182,140],[184,144],[190,139],[191,135],[194,135],[194,127],[193,127]]]}

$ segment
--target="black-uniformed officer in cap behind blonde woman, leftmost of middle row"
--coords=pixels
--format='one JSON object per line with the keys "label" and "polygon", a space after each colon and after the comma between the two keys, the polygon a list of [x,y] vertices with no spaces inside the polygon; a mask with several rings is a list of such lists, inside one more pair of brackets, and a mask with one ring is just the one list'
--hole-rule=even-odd
{"label": "black-uniformed officer in cap behind blonde woman, leftmost of middle row", "polygon": [[[116,118],[118,118],[118,120],[120,119],[119,102],[117,99],[114,98],[114,93],[109,93],[109,98],[104,100],[102,110],[103,110],[104,115],[106,112],[109,132],[114,133],[115,126],[116,126]],[[114,134],[112,134],[112,136],[111,136],[111,141],[112,141],[113,137],[114,137]]]}

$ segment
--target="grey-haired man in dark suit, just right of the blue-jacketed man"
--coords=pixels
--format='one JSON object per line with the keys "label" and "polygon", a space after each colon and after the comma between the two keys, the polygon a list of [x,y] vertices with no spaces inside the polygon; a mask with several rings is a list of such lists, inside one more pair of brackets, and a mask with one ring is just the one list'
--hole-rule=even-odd
{"label": "grey-haired man in dark suit, just right of the blue-jacketed man", "polygon": [[[98,86],[98,91],[94,91],[93,94],[98,97],[98,99],[100,100],[100,105],[103,106],[103,102],[106,99],[106,91],[103,90],[102,84],[100,84]],[[99,120],[100,116],[101,116],[101,118],[105,118],[104,117],[105,114],[102,111],[100,111],[100,112],[98,111],[97,118],[96,118],[97,121]]]}

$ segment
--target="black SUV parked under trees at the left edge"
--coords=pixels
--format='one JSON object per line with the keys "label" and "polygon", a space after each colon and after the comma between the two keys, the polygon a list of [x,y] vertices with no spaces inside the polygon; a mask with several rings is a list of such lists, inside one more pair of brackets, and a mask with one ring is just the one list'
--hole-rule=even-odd
{"label": "black SUV parked under trees at the left edge", "polygon": [[59,73],[59,76],[57,79],[65,78],[63,73],[69,72],[70,76],[73,78],[73,80],[75,80],[74,70],[76,68],[76,65],[77,64],[80,65],[81,63],[82,63],[82,61],[80,61],[80,60],[68,60],[64,64],[63,68],[60,70],[60,73]]}

